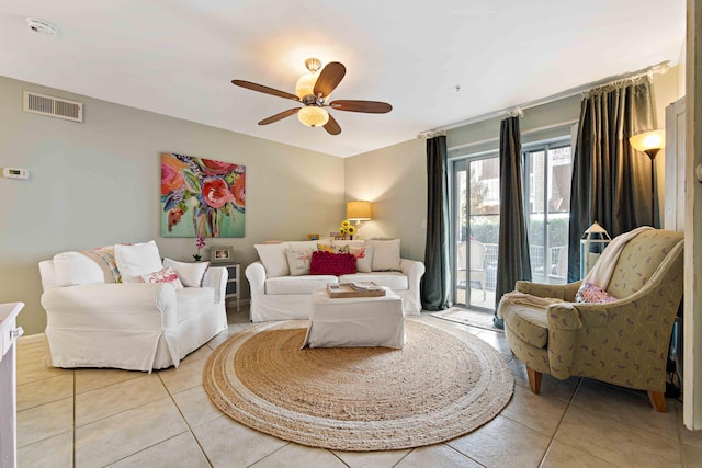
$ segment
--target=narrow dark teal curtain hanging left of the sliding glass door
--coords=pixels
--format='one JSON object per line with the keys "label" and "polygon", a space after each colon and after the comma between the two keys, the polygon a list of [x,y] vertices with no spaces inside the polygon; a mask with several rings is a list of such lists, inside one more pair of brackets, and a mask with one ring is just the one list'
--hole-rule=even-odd
{"label": "narrow dark teal curtain hanging left of the sliding glass door", "polygon": [[446,137],[427,139],[427,271],[421,278],[421,305],[432,311],[446,309],[451,294],[446,159]]}

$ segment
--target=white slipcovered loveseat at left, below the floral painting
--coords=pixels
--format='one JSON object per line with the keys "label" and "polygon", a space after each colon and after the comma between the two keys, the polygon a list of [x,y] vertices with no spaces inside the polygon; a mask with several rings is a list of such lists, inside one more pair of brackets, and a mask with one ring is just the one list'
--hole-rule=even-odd
{"label": "white slipcovered loveseat at left, below the floral painting", "polygon": [[[140,246],[147,244],[133,247]],[[145,256],[137,253],[141,262]],[[178,282],[115,283],[122,269],[110,264],[109,248],[42,261],[47,364],[144,372],[178,367],[185,355],[227,329],[226,269],[169,259],[161,265],[156,250],[143,274],[157,266],[171,267]]]}

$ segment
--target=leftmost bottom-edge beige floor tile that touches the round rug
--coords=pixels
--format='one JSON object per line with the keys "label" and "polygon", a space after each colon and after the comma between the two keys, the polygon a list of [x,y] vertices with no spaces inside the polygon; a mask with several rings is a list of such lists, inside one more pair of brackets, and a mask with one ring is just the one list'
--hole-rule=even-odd
{"label": "leftmost bottom-edge beige floor tile that touches the round rug", "polygon": [[215,468],[247,467],[288,444],[228,416],[217,418],[192,431]]}

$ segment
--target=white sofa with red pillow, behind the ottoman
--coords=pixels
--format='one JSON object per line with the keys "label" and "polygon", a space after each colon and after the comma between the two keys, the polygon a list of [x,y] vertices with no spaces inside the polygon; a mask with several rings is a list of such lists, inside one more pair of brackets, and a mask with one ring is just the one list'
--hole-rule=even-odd
{"label": "white sofa with red pillow, behind the ottoman", "polygon": [[[389,287],[403,299],[406,315],[419,315],[421,300],[419,285],[424,264],[399,258],[399,239],[394,241],[339,241],[327,240],[335,247],[370,247],[371,254],[354,274],[313,275],[292,274],[288,254],[294,250],[316,250],[325,241],[290,241],[254,246],[260,260],[246,269],[251,288],[251,321],[307,319],[312,311],[312,293],[329,283],[373,282]],[[389,253],[388,253],[389,252]],[[380,271],[383,270],[383,271]]]}

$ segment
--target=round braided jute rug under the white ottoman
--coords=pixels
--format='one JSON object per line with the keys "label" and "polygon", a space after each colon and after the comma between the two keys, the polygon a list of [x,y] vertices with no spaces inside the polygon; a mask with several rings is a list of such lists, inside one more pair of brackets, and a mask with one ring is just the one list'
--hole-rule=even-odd
{"label": "round braided jute rug under the white ottoman", "polygon": [[455,438],[512,396],[505,358],[441,320],[407,318],[404,350],[301,349],[306,324],[264,323],[219,345],[203,372],[214,404],[285,441],[366,452]]}

